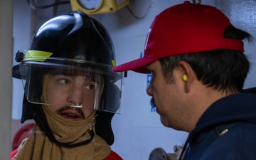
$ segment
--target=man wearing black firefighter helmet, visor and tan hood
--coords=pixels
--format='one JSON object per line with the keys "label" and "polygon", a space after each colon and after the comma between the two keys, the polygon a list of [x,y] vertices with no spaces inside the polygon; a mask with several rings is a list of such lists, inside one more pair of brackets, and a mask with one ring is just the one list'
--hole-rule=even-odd
{"label": "man wearing black firefighter helmet, visor and tan hood", "polygon": [[122,159],[110,148],[122,73],[112,71],[113,43],[99,21],[80,11],[55,16],[16,60],[13,77],[24,87],[21,123],[36,124],[11,159]]}

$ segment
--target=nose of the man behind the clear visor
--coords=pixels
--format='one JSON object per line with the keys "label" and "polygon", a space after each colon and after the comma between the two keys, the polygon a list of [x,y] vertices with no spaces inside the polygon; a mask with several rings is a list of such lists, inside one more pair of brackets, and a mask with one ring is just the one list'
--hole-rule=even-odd
{"label": "nose of the man behind the clear visor", "polygon": [[68,95],[68,103],[71,106],[82,106],[82,89],[73,87]]}

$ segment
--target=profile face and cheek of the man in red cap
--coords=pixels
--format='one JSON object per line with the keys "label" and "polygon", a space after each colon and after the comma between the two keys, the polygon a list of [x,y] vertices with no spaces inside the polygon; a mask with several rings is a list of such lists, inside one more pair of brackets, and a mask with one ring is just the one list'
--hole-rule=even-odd
{"label": "profile face and cheek of the man in red cap", "polygon": [[166,127],[182,130],[186,120],[186,100],[183,98],[182,75],[174,69],[171,82],[166,82],[161,70],[161,63],[156,60],[147,65],[152,74],[152,79],[146,92],[154,98],[153,105],[161,117],[161,123]]}

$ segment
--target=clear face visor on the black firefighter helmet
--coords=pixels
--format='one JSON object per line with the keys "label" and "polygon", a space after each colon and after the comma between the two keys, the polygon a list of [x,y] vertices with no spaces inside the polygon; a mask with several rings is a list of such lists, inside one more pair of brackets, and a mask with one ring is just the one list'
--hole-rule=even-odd
{"label": "clear face visor on the black firefighter helmet", "polygon": [[20,63],[28,102],[120,113],[122,73],[85,61],[48,59]]}

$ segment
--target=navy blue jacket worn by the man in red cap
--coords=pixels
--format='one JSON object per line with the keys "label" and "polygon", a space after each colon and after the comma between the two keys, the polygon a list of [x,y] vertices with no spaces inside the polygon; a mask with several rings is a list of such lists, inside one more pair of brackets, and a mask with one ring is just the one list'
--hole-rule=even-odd
{"label": "navy blue jacket worn by the man in red cap", "polygon": [[256,159],[256,94],[230,95],[210,105],[187,146],[184,160]]}

